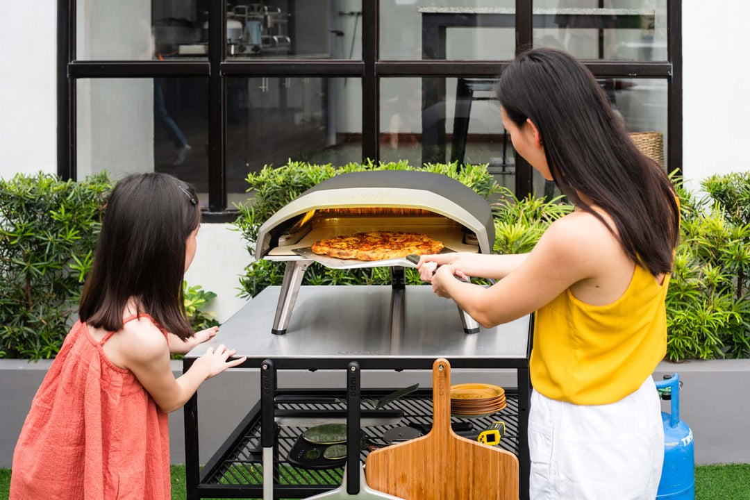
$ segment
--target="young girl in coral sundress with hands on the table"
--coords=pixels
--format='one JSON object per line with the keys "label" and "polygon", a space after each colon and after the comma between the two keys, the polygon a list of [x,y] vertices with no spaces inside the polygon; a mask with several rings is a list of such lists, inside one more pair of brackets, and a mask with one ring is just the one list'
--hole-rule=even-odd
{"label": "young girl in coral sundress with hands on the table", "polygon": [[216,334],[193,333],[184,272],[200,222],[193,188],[170,175],[130,175],[104,215],[74,325],[31,403],[13,454],[11,500],[169,499],[166,414],[235,367],[211,348],[175,379],[169,354]]}

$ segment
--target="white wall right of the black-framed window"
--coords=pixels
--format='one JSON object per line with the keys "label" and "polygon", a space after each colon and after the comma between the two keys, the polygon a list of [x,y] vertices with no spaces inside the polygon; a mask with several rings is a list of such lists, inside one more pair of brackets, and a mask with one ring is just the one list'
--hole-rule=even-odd
{"label": "white wall right of the black-framed window", "polygon": [[708,175],[750,170],[750,4],[707,5],[682,2],[683,175],[694,188]]}

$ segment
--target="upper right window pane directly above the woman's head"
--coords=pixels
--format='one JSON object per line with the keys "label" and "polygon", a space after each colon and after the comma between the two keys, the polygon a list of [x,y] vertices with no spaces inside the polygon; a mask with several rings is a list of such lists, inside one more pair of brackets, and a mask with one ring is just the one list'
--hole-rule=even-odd
{"label": "upper right window pane directly above the woman's head", "polygon": [[582,59],[667,60],[667,0],[534,0],[534,46]]}

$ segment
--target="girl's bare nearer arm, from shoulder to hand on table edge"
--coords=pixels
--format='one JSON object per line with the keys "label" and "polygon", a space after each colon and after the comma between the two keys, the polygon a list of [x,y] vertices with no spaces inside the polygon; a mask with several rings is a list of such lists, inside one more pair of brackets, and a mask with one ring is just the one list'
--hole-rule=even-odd
{"label": "girl's bare nearer arm, from shoulder to hand on table edge", "polygon": [[[125,325],[125,329],[130,330],[130,325],[131,323]],[[133,330],[135,328],[133,325]],[[187,403],[203,381],[245,361],[245,358],[226,361],[235,351],[226,349],[223,345],[218,346],[215,351],[209,347],[205,355],[193,362],[190,370],[175,379],[169,363],[169,346],[155,326],[139,328],[139,331],[131,330],[128,337],[128,344],[133,348],[123,353],[125,367],[135,374],[157,406],[167,413]]]}

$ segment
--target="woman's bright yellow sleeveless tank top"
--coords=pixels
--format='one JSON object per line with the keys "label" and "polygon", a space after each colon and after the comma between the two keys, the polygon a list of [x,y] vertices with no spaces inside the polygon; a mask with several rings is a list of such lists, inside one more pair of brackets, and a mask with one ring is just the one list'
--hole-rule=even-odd
{"label": "woman's bright yellow sleeveless tank top", "polygon": [[566,289],[536,311],[535,390],[577,405],[614,403],[637,390],[667,351],[669,278],[659,285],[636,265],[628,289],[611,304],[586,304]]}

